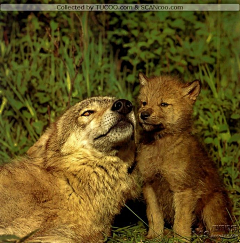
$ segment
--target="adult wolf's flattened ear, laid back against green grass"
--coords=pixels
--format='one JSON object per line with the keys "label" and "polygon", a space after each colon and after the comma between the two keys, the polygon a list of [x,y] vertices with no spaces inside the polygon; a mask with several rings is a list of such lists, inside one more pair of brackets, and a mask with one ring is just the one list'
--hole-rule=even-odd
{"label": "adult wolf's flattened ear, laid back against green grass", "polygon": [[46,153],[47,142],[52,134],[52,129],[48,128],[46,132],[33,144],[27,151],[30,157],[42,157]]}

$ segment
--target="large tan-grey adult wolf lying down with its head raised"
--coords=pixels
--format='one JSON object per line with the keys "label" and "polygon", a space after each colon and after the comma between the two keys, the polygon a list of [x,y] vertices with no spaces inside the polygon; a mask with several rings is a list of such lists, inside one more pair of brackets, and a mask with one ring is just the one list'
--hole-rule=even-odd
{"label": "large tan-grey adult wolf lying down with its head raised", "polygon": [[0,167],[0,234],[31,242],[102,242],[136,195],[135,116],[128,100],[86,99]]}

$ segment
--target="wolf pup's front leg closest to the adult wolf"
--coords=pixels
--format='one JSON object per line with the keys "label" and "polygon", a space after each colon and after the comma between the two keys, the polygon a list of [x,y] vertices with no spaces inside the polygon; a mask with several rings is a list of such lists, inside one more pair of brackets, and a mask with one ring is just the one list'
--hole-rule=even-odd
{"label": "wolf pup's front leg closest to the adult wolf", "polygon": [[146,184],[143,187],[143,195],[147,203],[147,218],[149,230],[147,234],[148,239],[156,238],[163,234],[164,219],[163,212],[158,203],[156,193],[151,185]]}

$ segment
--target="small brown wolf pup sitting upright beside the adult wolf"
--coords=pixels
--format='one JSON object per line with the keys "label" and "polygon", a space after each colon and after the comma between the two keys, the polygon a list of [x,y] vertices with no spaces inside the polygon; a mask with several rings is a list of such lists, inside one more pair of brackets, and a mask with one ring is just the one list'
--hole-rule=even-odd
{"label": "small brown wolf pup sitting upright beside the adult wolf", "polygon": [[137,163],[144,181],[147,238],[162,235],[164,223],[187,238],[194,226],[223,235],[231,224],[230,201],[214,163],[192,135],[199,81],[184,84],[170,76],[143,74],[139,79],[143,136]]}

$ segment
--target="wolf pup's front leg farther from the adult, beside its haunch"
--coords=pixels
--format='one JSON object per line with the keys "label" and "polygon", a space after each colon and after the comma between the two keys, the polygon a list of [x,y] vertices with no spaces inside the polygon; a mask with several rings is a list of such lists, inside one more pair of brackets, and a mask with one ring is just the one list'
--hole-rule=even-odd
{"label": "wolf pup's front leg farther from the adult, beside its haunch", "polygon": [[174,232],[176,236],[180,235],[186,238],[186,241],[190,241],[196,197],[193,195],[192,190],[189,189],[174,193],[173,200],[175,207]]}

